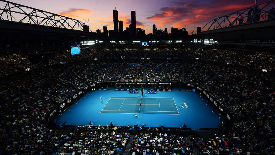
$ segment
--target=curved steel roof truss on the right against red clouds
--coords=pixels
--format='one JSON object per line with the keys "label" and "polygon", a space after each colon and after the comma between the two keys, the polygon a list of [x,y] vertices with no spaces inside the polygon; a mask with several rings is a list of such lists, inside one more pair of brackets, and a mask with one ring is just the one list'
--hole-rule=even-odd
{"label": "curved steel roof truss on the right against red clouds", "polygon": [[264,3],[256,4],[251,7],[215,18],[208,22],[201,29],[201,31],[273,20],[275,19],[275,9],[273,10],[273,13],[271,13],[269,9],[274,7],[274,1],[275,0],[266,1]]}

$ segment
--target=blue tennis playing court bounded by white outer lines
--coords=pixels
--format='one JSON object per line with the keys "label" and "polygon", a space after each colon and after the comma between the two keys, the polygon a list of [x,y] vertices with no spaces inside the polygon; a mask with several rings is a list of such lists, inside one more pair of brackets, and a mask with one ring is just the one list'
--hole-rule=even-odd
{"label": "blue tennis playing court bounded by white outer lines", "polygon": [[179,115],[174,98],[111,97],[100,113]]}

